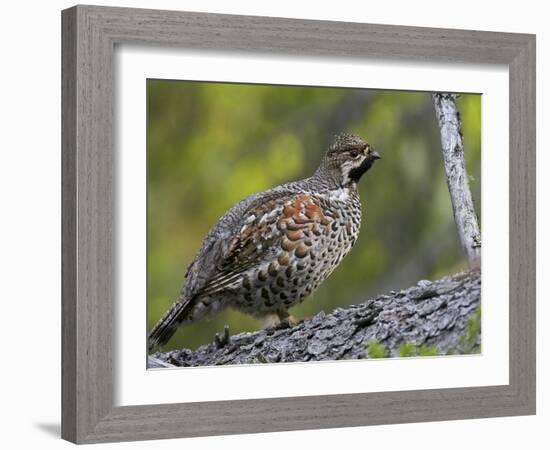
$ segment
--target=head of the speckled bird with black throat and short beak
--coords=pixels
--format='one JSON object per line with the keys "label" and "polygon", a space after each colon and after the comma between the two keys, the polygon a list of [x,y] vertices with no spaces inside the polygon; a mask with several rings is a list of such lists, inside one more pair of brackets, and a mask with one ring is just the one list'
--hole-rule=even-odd
{"label": "head of the speckled bird with black throat and short beak", "polygon": [[342,133],[328,148],[319,170],[338,186],[349,187],[356,184],[380,158],[378,152],[359,136]]}

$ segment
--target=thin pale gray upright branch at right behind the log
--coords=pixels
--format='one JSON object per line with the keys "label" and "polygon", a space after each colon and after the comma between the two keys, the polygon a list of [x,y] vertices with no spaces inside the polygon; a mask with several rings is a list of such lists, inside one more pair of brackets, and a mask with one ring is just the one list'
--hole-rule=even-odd
{"label": "thin pale gray upright branch at right behind the log", "polygon": [[470,269],[479,269],[481,233],[464,162],[464,144],[460,118],[456,110],[456,94],[434,93],[432,98],[439,123],[447,185],[460,243],[468,258]]}

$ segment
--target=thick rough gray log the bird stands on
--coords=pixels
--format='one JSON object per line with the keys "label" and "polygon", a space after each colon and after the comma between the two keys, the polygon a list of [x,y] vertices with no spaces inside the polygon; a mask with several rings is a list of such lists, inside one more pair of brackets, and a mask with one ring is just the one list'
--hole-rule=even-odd
{"label": "thick rough gray log the bird stands on", "polygon": [[331,314],[321,312],[290,329],[240,333],[225,346],[212,342],[196,351],[156,353],[148,364],[162,368],[362,359],[372,356],[372,342],[384,345],[388,356],[399,356],[404,343],[436,347],[439,354],[475,353],[479,332],[472,337],[465,328],[480,306],[480,291],[477,271],[422,280]]}

